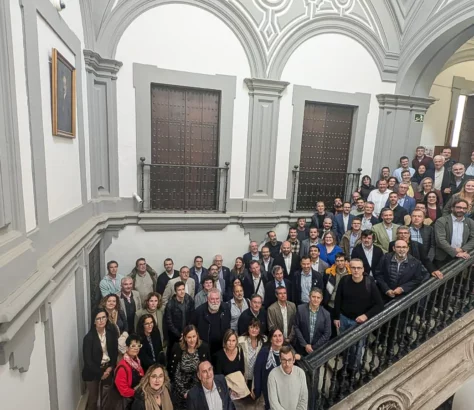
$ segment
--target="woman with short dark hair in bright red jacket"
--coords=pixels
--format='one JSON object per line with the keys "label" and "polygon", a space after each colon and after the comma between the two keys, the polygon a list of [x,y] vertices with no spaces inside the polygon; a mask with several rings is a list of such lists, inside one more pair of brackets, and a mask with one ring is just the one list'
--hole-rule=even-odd
{"label": "woman with short dark hair in bright red jacket", "polygon": [[127,346],[127,351],[115,368],[115,386],[122,397],[130,398],[130,401],[132,401],[135,396],[134,388],[140,383],[144,375],[140,359],[138,358],[138,353],[142,347],[140,337],[130,335],[125,341],[125,345]]}

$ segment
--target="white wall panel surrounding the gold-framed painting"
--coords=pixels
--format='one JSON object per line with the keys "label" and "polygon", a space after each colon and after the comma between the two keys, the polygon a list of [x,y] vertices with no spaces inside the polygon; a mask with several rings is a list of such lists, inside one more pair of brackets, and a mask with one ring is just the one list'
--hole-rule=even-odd
{"label": "white wall panel surrounding the gold-framed painting", "polygon": [[38,15],[37,19],[49,219],[54,220],[80,206],[82,199],[78,138],[53,137],[52,133],[49,60],[53,48],[72,65],[75,59],[43,18]]}

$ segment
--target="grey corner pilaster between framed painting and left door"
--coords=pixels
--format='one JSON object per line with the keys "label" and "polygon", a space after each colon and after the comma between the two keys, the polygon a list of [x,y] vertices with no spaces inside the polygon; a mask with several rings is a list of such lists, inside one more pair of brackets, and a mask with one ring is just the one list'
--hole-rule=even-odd
{"label": "grey corner pilaster between framed painting and left door", "polygon": [[117,73],[120,61],[84,50],[89,108],[92,198],[119,196]]}

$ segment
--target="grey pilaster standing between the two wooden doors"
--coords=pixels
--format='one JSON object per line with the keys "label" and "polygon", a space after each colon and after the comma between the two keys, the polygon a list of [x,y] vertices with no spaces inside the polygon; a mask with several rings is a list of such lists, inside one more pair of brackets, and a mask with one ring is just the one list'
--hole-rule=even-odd
{"label": "grey pilaster standing between the two wooden doors", "polygon": [[280,98],[289,83],[246,78],[250,95],[244,212],[273,212]]}

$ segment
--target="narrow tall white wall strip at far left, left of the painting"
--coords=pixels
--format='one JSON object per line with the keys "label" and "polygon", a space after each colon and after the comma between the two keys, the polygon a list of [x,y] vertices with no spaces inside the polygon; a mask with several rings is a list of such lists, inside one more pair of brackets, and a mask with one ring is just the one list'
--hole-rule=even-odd
{"label": "narrow tall white wall strip at far left, left of the painting", "polygon": [[36,206],[31,163],[30,120],[26,91],[25,54],[23,51],[23,22],[18,1],[10,0],[13,61],[15,67],[18,134],[26,231],[36,227]]}

